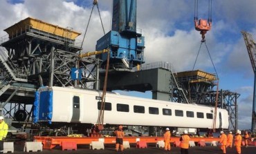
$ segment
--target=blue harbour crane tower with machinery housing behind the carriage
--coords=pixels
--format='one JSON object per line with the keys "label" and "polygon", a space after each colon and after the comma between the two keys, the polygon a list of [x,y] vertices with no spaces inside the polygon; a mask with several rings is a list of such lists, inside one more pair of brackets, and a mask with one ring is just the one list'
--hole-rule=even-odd
{"label": "blue harbour crane tower with machinery housing behind the carriage", "polygon": [[[113,0],[112,28],[97,41],[96,50],[109,48],[109,67],[128,68],[145,63],[145,37],[136,29],[136,0]],[[102,68],[107,53],[97,55]]]}

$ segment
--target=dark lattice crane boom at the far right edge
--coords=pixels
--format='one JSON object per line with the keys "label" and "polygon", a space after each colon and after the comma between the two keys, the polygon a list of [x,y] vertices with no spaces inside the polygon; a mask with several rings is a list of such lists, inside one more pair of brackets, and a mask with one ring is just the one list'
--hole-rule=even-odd
{"label": "dark lattice crane boom at the far right edge", "polygon": [[253,89],[253,114],[252,114],[252,132],[256,132],[256,44],[253,40],[253,36],[248,32],[241,31],[244,36],[248,55],[250,57],[250,63],[253,66],[254,72],[254,89]]}

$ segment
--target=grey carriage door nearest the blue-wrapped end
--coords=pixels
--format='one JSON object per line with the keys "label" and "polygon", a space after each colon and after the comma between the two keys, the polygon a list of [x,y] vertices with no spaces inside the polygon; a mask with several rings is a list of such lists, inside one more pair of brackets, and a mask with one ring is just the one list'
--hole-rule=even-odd
{"label": "grey carriage door nearest the blue-wrapped end", "polygon": [[73,96],[73,114],[71,122],[80,122],[80,97]]}

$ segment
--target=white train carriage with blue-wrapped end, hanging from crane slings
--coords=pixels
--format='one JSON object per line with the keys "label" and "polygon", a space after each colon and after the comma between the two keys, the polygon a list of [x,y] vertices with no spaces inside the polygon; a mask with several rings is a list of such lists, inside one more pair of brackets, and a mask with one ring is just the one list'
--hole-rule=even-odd
{"label": "white train carriage with blue-wrapped end, hanging from crane slings", "polygon": [[[34,122],[95,124],[102,92],[63,87],[37,90]],[[105,124],[212,128],[214,108],[107,93]],[[215,128],[228,128],[228,111],[217,108]]]}

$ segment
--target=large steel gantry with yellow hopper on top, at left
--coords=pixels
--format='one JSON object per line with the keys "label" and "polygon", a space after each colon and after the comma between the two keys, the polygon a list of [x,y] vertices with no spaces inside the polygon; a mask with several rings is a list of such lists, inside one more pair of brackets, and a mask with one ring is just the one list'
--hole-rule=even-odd
{"label": "large steel gantry with yellow hopper on top, at left", "polygon": [[[39,86],[98,89],[100,60],[80,57],[77,52],[82,48],[75,40],[79,32],[30,17],[5,31],[8,35],[1,37],[0,46],[0,98],[6,117],[28,119]],[[80,80],[71,79],[72,68],[82,70]]]}

